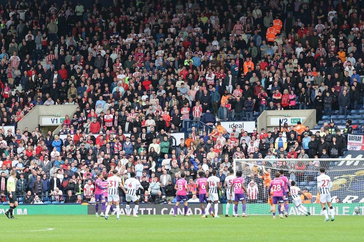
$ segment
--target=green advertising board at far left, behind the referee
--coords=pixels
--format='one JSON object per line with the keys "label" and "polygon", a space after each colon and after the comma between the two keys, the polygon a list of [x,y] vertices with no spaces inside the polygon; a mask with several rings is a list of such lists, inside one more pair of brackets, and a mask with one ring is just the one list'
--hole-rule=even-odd
{"label": "green advertising board at far left, behind the referee", "polygon": [[[3,215],[9,205],[0,205]],[[13,212],[16,215],[87,215],[87,205],[81,204],[34,204],[19,205]]]}

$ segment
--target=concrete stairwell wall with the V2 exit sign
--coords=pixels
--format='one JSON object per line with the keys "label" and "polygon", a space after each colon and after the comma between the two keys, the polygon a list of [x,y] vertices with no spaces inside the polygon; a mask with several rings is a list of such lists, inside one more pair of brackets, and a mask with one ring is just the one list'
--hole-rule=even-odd
{"label": "concrete stairwell wall with the V2 exit sign", "polygon": [[[281,121],[279,119],[281,119]],[[273,127],[279,127],[280,122],[281,126],[283,126],[284,123],[288,123],[289,126],[296,126],[297,121],[300,121],[305,126],[314,128],[316,125],[316,110],[265,110],[257,119],[257,128],[259,131],[261,128],[265,128],[266,132],[273,132]]]}

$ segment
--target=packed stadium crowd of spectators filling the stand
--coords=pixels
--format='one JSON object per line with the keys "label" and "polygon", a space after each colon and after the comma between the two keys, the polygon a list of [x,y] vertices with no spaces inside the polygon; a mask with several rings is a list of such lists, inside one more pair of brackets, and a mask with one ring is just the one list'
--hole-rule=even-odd
{"label": "packed stadium crowd of spectators filling the stand", "polygon": [[[356,0],[1,4],[0,124],[17,127],[36,105],[79,105],[65,117],[65,140],[37,128],[3,131],[3,198],[11,169],[24,203],[51,194],[75,202],[96,173],[113,169],[122,179],[137,173],[142,200],[172,202],[181,172],[192,196],[198,171],[217,169],[223,183],[232,159],[244,157],[276,159],[260,162],[272,172],[294,168],[292,179],[308,181],[307,172],[335,164],[279,159],[342,156],[345,139],[333,123],[314,134],[300,123],[253,134],[193,127],[177,149],[171,136],[184,120],[213,125],[315,108],[319,121],[355,110],[364,100],[363,15]],[[262,184],[257,171],[244,172],[249,184]]]}

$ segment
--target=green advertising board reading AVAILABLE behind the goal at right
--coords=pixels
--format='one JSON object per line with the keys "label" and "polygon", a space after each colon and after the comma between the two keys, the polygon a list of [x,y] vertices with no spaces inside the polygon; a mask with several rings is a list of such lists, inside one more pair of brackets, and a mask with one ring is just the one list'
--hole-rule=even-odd
{"label": "green advertising board reading AVAILABLE behind the goal at right", "polygon": [[[311,203],[311,204],[302,204],[308,209],[308,212],[311,215],[323,215],[321,204],[319,203]],[[335,208],[335,215],[364,215],[364,204],[363,203],[333,203],[332,206]],[[225,211],[226,204],[223,204],[222,210]],[[230,206],[229,214],[233,214],[234,206]],[[246,205],[246,214],[253,215],[268,215],[268,211],[270,209],[270,204],[247,204]],[[219,209],[220,210],[220,209]],[[242,207],[238,206],[238,214],[242,214]],[[302,215],[298,209],[293,206],[289,206],[289,215]],[[270,214],[269,214],[270,215]]]}

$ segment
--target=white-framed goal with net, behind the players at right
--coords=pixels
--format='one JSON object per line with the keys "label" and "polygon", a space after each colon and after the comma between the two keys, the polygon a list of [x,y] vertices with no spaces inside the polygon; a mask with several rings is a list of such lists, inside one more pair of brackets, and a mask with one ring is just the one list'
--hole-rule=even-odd
{"label": "white-framed goal with net, behind the players at right", "polygon": [[[265,169],[262,169],[264,166]],[[268,186],[264,173],[271,179],[274,173],[284,170],[289,181],[295,181],[306,197],[301,196],[302,205],[312,215],[321,214],[320,194],[317,190],[319,168],[324,166],[326,174],[331,177],[333,187],[331,199],[337,215],[364,215],[364,159],[234,159],[234,174],[242,172],[246,196],[246,214],[268,215],[271,208],[268,200]],[[289,197],[289,215],[302,215]],[[229,214],[232,214],[230,206]],[[278,210],[277,210],[278,211]],[[285,211],[286,212],[286,211]],[[238,214],[242,214],[242,206],[238,206]],[[277,212],[278,214],[278,212]]]}

